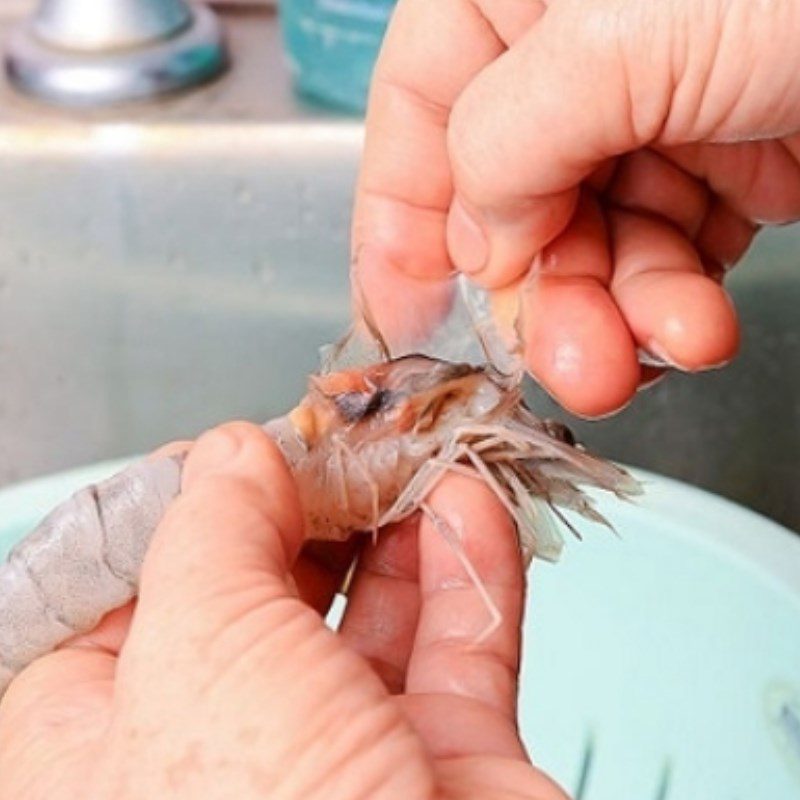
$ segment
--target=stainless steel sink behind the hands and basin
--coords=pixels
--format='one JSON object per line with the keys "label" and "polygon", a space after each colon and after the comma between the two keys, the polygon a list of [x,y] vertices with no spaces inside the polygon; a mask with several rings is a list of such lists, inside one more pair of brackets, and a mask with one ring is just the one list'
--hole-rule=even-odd
{"label": "stainless steel sink behind the hands and basin", "polygon": [[[293,96],[270,11],[221,17],[232,69],[190,94],[71,116],[0,86],[0,484],[275,414],[346,322],[360,124]],[[800,528],[800,231],[748,262],[735,364],[575,427]]]}

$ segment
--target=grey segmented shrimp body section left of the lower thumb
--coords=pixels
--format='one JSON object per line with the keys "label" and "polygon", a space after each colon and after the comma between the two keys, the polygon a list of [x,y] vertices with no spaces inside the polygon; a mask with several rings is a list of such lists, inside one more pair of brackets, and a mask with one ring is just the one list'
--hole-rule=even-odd
{"label": "grey segmented shrimp body section left of the lower thumb", "polygon": [[184,455],[134,464],[56,507],[0,566],[0,696],[34,659],[137,592]]}

